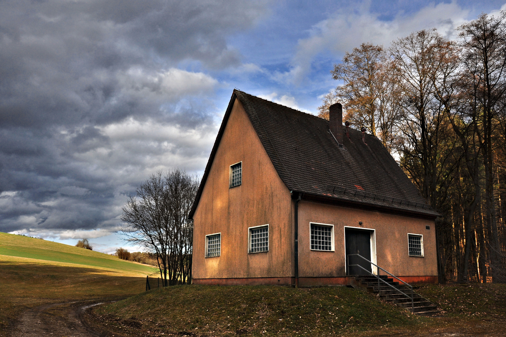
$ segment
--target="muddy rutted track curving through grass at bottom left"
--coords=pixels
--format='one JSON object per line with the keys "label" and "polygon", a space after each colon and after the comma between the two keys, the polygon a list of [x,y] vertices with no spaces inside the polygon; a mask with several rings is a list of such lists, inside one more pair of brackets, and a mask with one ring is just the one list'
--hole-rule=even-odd
{"label": "muddy rutted track curving through grass at bottom left", "polygon": [[[114,301],[119,300],[115,298]],[[93,327],[85,320],[85,313],[92,307],[110,303],[111,298],[87,301],[45,304],[29,309],[18,320],[12,337],[107,337],[108,331]],[[116,334],[117,335],[117,334]]]}

